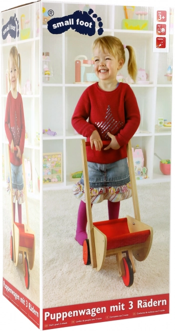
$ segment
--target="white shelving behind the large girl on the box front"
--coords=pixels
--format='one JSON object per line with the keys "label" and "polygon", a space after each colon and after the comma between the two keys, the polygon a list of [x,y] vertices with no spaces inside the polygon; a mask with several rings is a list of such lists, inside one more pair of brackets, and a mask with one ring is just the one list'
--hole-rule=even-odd
{"label": "white shelving behind the large girl on the box front", "polygon": [[[54,11],[53,17],[70,15],[76,10],[84,10],[80,4],[51,4]],[[138,144],[144,155],[144,165],[147,168],[148,178],[137,181],[139,184],[169,181],[170,176],[162,175],[159,170],[159,161],[154,152],[162,158],[164,154],[170,158],[170,128],[161,128],[157,131],[155,124],[159,116],[171,121],[171,86],[165,75],[172,59],[173,36],[169,38],[169,53],[153,53],[153,8],[135,7],[133,19],[137,19],[135,12],[147,12],[148,30],[122,30],[121,21],[124,19],[123,6],[90,5],[94,13],[101,18],[104,32],[102,36],[112,35],[119,38],[123,44],[134,48],[137,68],[145,69],[147,74],[146,84],[130,84],[140,110],[141,121],[139,132],[131,139],[135,148]],[[50,9],[45,2],[46,10]],[[48,127],[56,132],[55,136],[47,133],[42,135],[43,152],[62,152],[63,182],[44,186],[44,190],[62,189],[72,186],[70,174],[81,171],[80,139],[71,126],[71,116],[76,103],[89,83],[86,73],[93,72],[93,66],[85,68],[83,83],[75,83],[75,57],[84,55],[88,60],[92,58],[92,44],[98,37],[92,37],[68,30],[61,35],[51,35],[46,25],[42,26],[42,52],[49,52],[52,77],[49,81],[42,77],[42,104],[43,104],[43,129]],[[128,77],[127,62],[128,51],[125,50],[125,64],[120,73]],[[166,147],[168,145],[168,147]]]}

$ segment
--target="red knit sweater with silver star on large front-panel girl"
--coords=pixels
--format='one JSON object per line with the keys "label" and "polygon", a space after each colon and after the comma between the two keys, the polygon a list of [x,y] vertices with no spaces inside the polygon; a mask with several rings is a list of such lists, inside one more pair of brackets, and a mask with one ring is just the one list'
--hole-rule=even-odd
{"label": "red knit sweater with silver star on large front-panel girl", "polygon": [[[88,118],[88,122],[86,121]],[[119,83],[113,91],[103,91],[98,83],[85,89],[75,107],[72,119],[74,129],[84,137],[97,130],[101,140],[110,140],[107,132],[115,135],[120,148],[96,151],[88,146],[87,161],[112,163],[126,157],[126,144],[140,123],[136,98],[130,86]]]}

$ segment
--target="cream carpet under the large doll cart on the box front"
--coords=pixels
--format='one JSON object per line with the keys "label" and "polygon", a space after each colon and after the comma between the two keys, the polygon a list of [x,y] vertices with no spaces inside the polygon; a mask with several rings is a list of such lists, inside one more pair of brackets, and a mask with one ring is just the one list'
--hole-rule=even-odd
{"label": "cream carpet under the large doll cart on the box front", "polygon": [[[82,261],[74,240],[79,201],[71,190],[43,193],[43,308],[169,292],[170,184],[137,186],[141,221],[153,227],[145,261],[135,261],[133,285],[124,286],[114,257],[101,271]],[[93,222],[105,220],[107,202],[94,205]],[[120,203],[119,217],[133,215],[132,199]]]}

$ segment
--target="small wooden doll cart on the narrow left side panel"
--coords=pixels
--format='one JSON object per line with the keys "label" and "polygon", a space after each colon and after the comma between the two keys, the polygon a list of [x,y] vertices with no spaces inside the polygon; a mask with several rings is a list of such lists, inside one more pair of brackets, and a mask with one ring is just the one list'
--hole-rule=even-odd
{"label": "small wooden doll cart on the narrow left side panel", "polygon": [[[16,147],[14,147],[14,150],[16,150]],[[8,149],[8,156],[9,156],[9,149]],[[25,197],[27,224],[21,224],[21,223],[13,221],[11,168],[10,168],[10,161],[9,161],[10,196],[11,196],[11,212],[12,212],[10,256],[11,256],[11,260],[14,262],[15,266],[17,266],[18,256],[19,256],[19,254],[22,254],[23,275],[24,275],[24,280],[25,280],[25,287],[26,287],[26,289],[28,289],[29,288],[29,269],[31,270],[33,268],[33,264],[34,264],[35,241],[34,241],[34,231],[32,231],[30,229],[29,220],[28,220],[28,205],[27,205],[23,155],[22,155],[22,173],[23,173],[23,191],[24,191],[24,197]]]}

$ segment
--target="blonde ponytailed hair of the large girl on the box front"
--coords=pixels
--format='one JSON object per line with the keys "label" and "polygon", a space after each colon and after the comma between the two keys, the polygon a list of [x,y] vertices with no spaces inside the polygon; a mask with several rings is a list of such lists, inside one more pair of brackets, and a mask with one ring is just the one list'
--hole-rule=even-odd
{"label": "blonde ponytailed hair of the large girl on the box front", "polygon": [[124,49],[127,48],[129,52],[129,59],[127,63],[127,70],[130,77],[134,80],[136,79],[137,74],[137,67],[136,67],[136,60],[135,60],[135,52],[131,46],[123,46],[121,41],[113,36],[104,36],[95,39],[93,42],[92,50],[98,46],[103,52],[107,51],[114,57],[118,57],[118,60],[123,59],[125,62],[125,51]]}

